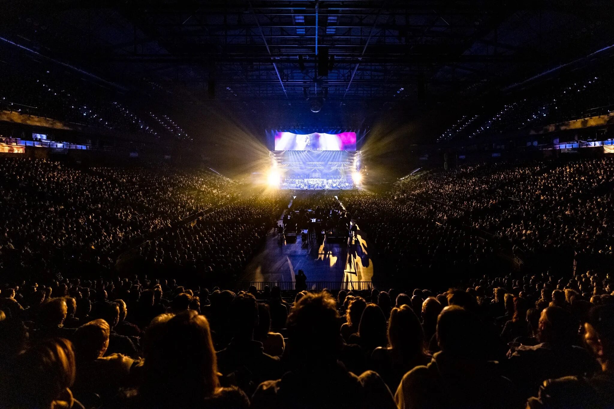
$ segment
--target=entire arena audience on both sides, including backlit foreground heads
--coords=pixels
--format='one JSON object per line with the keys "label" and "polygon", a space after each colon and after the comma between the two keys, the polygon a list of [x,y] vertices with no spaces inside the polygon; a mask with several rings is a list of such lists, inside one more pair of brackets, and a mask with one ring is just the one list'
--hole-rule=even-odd
{"label": "entire arena audience on both sides, including backlit foreground heads", "polygon": [[[208,170],[0,173],[0,407],[614,407],[612,159],[294,198]],[[284,210],[359,223],[392,288],[235,288]],[[507,273],[506,249],[610,264]]]}

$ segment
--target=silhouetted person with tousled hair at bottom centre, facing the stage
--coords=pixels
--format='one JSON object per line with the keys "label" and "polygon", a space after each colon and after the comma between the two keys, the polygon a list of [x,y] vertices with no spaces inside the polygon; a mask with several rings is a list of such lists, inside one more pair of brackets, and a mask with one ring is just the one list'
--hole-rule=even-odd
{"label": "silhouetted person with tousled hair at bottom centre, facing the stage", "polygon": [[303,296],[288,317],[288,332],[284,358],[289,372],[261,383],[252,408],[395,408],[377,373],[357,377],[338,363],[339,315],[327,293]]}

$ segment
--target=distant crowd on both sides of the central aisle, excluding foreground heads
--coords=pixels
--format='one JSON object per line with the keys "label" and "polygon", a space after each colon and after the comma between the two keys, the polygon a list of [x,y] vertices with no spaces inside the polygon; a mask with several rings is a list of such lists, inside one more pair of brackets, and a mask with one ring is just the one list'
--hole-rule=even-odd
{"label": "distant crowd on both sides of the central aisle, excluding foreground heads", "polygon": [[[144,242],[138,254],[145,268],[161,275],[181,267],[236,277],[292,199],[284,191],[241,197],[235,182],[214,172],[168,166],[87,169],[5,158],[0,172],[0,263],[26,273],[109,270]],[[500,269],[512,250],[523,261],[546,254],[571,268],[574,256],[584,256],[581,267],[607,266],[613,187],[611,158],[501,162],[421,171],[385,193],[348,191],[338,200],[389,275],[411,271],[428,284],[432,272],[468,277]],[[332,194],[313,197],[321,208],[341,208]],[[195,224],[178,223],[202,211],[209,213]]]}

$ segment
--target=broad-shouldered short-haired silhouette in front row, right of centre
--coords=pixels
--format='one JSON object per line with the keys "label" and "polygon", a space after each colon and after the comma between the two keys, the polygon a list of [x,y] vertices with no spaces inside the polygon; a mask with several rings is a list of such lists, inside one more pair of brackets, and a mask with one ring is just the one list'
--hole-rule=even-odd
{"label": "broad-shouldered short-haired silhouette in front row, right of centre", "polygon": [[513,408],[518,405],[510,381],[485,361],[479,337],[480,321],[452,305],[437,321],[441,351],[426,366],[406,373],[395,401],[405,408]]}

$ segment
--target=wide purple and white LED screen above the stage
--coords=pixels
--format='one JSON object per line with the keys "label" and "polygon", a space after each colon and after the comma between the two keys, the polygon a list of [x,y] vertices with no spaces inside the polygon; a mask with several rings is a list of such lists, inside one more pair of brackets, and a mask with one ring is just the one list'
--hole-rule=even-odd
{"label": "wide purple and white LED screen above the stage", "polygon": [[276,132],[275,150],[356,150],[356,132],[293,134]]}

